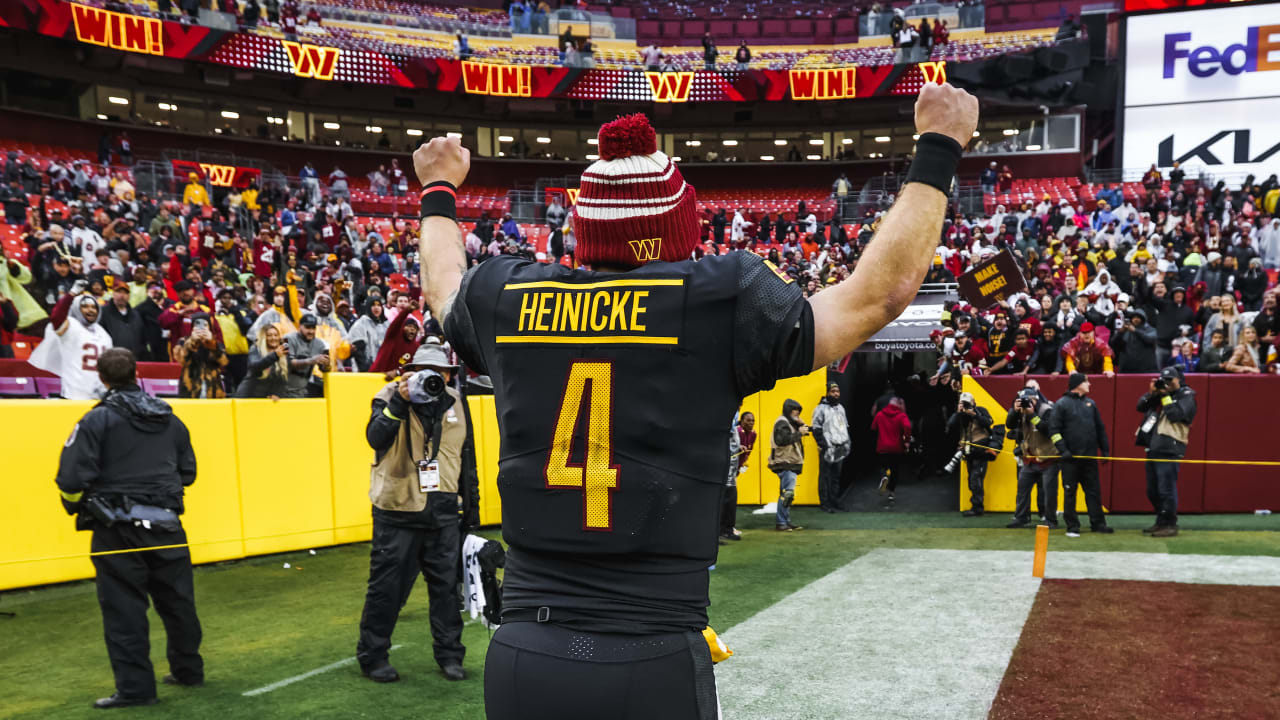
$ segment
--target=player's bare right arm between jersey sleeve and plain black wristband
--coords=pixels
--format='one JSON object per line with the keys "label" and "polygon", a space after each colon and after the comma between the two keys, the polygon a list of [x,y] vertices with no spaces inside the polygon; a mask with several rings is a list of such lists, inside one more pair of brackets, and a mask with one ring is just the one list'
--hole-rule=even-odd
{"label": "player's bare right arm between jersey sleeve and plain black wristband", "polygon": [[920,287],[938,246],[947,197],[923,183],[902,187],[849,281],[810,301],[824,323],[814,342],[814,368],[837,360],[897,318]]}

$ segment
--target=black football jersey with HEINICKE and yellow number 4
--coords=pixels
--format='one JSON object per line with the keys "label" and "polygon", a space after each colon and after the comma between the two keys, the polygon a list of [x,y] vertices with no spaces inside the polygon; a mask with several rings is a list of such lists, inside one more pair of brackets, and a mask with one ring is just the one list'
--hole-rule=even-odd
{"label": "black football jersey with HEINICKE and yellow number 4", "polygon": [[504,611],[704,628],[733,413],[813,369],[791,278],[748,252],[625,273],[499,256],[465,275],[444,332],[493,378]]}

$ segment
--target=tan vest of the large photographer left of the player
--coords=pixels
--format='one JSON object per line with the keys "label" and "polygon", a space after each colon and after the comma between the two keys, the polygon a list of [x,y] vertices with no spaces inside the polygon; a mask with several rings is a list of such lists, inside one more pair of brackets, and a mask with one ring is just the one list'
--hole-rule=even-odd
{"label": "tan vest of the large photographer left of the player", "polygon": [[[376,400],[390,405],[392,395],[397,392],[390,383],[378,392]],[[453,405],[444,411],[440,420],[440,448],[435,454],[440,464],[440,492],[457,495],[458,478],[462,474],[462,445],[467,439],[467,420],[462,414],[462,398],[458,391],[445,387],[444,392],[453,398]],[[374,507],[398,512],[417,512],[426,507],[426,493],[417,482],[417,461],[430,452],[426,429],[417,413],[408,411],[408,423],[401,423],[383,459],[374,464],[369,478],[369,500]]]}

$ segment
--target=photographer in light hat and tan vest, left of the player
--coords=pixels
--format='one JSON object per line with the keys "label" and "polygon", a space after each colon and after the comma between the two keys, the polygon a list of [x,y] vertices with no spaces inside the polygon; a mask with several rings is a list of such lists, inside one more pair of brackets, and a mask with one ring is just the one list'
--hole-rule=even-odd
{"label": "photographer in light hat and tan vest, left of the player", "polygon": [[467,439],[470,418],[452,386],[458,366],[449,363],[439,343],[422,343],[403,370],[399,380],[374,398],[365,430],[376,452],[369,483],[374,544],[356,659],[369,679],[399,680],[387,655],[401,607],[422,573],[435,661],[445,678],[462,680],[460,512],[467,528],[480,524],[480,480]]}

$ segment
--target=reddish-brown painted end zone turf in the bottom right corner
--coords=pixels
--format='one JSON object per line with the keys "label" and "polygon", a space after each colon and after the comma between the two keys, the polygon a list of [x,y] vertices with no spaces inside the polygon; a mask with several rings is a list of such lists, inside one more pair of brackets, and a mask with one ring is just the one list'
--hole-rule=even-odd
{"label": "reddish-brown painted end zone turf in the bottom right corner", "polygon": [[991,717],[1280,717],[1276,618],[1276,587],[1044,580]]}

